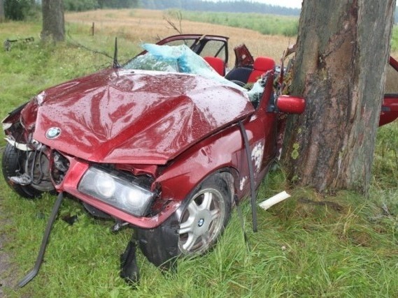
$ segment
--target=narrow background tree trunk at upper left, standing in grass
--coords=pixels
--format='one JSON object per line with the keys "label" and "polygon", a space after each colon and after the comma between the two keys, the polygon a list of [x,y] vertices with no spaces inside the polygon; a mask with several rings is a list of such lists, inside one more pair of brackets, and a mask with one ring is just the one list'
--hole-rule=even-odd
{"label": "narrow background tree trunk at upper left, standing in grass", "polygon": [[43,0],[43,31],[41,39],[44,41],[62,41],[65,39],[64,5],[62,0]]}

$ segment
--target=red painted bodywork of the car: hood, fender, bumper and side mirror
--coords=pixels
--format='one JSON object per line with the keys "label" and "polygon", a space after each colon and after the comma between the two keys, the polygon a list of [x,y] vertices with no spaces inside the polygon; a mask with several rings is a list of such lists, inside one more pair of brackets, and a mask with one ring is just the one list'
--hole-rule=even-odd
{"label": "red painted bodywork of the car: hood, fender, bumper and side mirror", "polygon": [[[205,45],[206,39],[227,43],[222,36],[180,38],[194,38],[197,45]],[[164,43],[178,39],[172,36]],[[250,60],[250,53],[241,54]],[[268,75],[273,77],[273,72]],[[35,140],[69,159],[69,170],[57,191],[71,193],[122,221],[155,228],[214,172],[232,174],[239,199],[248,194],[248,158],[239,121],[250,144],[255,186],[260,186],[277,154],[278,114],[270,109],[272,95],[273,80],[269,79],[255,109],[241,91],[204,77],[108,69],[43,91],[8,120],[17,121],[20,113]],[[305,103],[283,96],[277,105],[281,112],[300,113]],[[61,134],[48,140],[45,133],[52,127],[60,128]],[[78,183],[93,162],[150,175],[151,189],[160,193],[153,204],[156,214],[132,216],[80,193]]]}

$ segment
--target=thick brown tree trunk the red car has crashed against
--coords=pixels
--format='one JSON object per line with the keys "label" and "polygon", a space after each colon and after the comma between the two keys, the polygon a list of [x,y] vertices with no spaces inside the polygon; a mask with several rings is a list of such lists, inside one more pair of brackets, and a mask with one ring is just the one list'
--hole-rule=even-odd
{"label": "thick brown tree trunk the red car has crashed against", "polygon": [[367,193],[396,0],[304,0],[291,94],[288,177],[318,191]]}

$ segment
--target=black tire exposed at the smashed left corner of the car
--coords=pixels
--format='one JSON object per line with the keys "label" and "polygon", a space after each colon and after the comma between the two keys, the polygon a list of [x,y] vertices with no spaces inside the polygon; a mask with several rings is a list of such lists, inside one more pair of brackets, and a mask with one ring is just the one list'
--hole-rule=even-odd
{"label": "black tire exposed at the smashed left corner of the car", "polygon": [[27,199],[38,198],[43,193],[42,191],[38,191],[36,188],[33,188],[29,185],[22,186],[19,184],[14,184],[9,179],[9,177],[24,173],[24,153],[24,151],[20,151],[19,149],[13,147],[11,144],[6,144],[1,163],[3,177],[7,181],[10,188],[12,188],[13,191],[15,191],[21,197]]}

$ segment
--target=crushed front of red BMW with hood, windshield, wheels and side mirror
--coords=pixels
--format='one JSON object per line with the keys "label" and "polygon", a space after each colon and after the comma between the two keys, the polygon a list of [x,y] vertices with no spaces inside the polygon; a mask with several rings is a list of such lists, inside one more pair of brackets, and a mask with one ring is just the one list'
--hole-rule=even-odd
{"label": "crushed front of red BMW with hood, windshield, wheels and side mirror", "polygon": [[[302,98],[276,94],[273,68],[252,91],[222,77],[195,54],[206,38],[148,45],[120,68],[42,91],[3,120],[10,187],[25,198],[59,193],[55,215],[68,193],[94,216],[115,218],[116,230],[134,228],[121,258],[131,281],[136,244],[164,268],[206,253],[278,155],[278,114],[304,111]],[[227,38],[215,40],[224,40],[220,54]]]}

